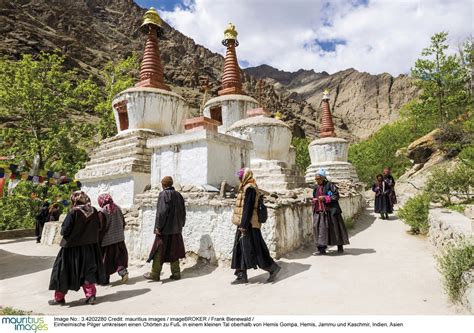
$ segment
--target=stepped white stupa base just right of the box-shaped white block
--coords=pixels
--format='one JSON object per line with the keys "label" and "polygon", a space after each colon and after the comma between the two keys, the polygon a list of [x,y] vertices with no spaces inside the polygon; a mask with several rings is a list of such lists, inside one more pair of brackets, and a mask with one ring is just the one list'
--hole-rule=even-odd
{"label": "stepped white stupa base just right of the box-shaped white block", "polygon": [[306,187],[305,179],[287,163],[275,160],[251,160],[250,169],[260,189],[267,192],[283,192]]}

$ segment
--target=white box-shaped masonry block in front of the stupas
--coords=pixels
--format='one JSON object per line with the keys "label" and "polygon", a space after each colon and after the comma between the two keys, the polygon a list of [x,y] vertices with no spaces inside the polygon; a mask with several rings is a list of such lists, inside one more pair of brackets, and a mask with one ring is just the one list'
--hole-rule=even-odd
{"label": "white box-shaped masonry block in front of the stupas", "polygon": [[159,186],[164,176],[173,177],[176,185],[207,186],[220,189],[222,182],[238,186],[235,173],[250,163],[252,142],[197,129],[184,134],[152,139],[151,185]]}

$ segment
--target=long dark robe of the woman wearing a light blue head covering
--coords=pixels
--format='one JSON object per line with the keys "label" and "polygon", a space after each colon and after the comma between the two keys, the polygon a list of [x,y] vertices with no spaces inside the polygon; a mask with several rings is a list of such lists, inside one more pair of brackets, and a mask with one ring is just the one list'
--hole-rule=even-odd
{"label": "long dark robe of the woman wearing a light blue head covering", "polygon": [[318,189],[322,195],[330,198],[330,202],[324,202],[323,210],[318,210],[317,203],[314,205],[313,233],[315,245],[318,247],[349,244],[349,235],[338,202],[339,190],[333,183],[325,181],[322,185],[316,185],[313,190],[313,198],[317,198]]}

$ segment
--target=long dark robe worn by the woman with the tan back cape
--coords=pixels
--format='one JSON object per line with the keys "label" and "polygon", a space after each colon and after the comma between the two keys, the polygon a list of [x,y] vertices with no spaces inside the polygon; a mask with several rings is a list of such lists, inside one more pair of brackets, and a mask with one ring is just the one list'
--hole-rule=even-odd
{"label": "long dark robe worn by the woman with the tan back cape", "polygon": [[257,191],[250,186],[245,191],[242,221],[239,226],[246,231],[242,233],[238,227],[235,232],[232,269],[246,270],[249,268],[257,269],[258,267],[265,269],[274,263],[262,232],[258,228],[252,228],[251,220],[255,200],[257,200]]}

